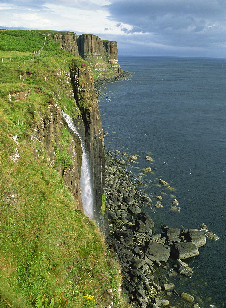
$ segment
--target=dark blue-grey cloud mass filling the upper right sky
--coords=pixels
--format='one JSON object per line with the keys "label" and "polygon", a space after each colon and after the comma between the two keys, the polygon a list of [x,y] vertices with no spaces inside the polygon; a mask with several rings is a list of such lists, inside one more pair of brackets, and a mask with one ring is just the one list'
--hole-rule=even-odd
{"label": "dark blue-grey cloud mass filling the upper right sky", "polygon": [[153,43],[210,47],[225,42],[225,3],[217,0],[113,0],[109,19],[129,24],[124,31],[149,33]]}

